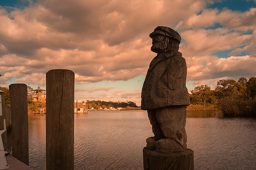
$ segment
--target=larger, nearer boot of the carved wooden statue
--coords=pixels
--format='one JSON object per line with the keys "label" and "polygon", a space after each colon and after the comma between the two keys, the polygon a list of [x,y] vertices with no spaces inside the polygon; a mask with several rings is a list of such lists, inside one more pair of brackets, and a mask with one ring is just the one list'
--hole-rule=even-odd
{"label": "larger, nearer boot of the carved wooden statue", "polygon": [[184,146],[182,146],[177,140],[172,138],[164,138],[155,142],[156,152],[171,153],[171,152],[183,152]]}

